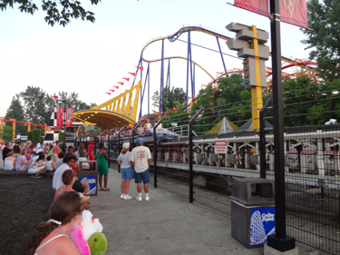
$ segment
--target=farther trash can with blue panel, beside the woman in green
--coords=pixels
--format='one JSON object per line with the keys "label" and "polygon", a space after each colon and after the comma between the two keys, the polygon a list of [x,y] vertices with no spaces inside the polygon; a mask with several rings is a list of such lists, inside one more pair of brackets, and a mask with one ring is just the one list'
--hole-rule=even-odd
{"label": "farther trash can with blue panel, beside the woman in green", "polygon": [[[93,163],[90,167],[90,163]],[[87,187],[87,196],[96,196],[98,194],[98,165],[96,161],[79,162],[80,174],[78,181],[85,183]]]}

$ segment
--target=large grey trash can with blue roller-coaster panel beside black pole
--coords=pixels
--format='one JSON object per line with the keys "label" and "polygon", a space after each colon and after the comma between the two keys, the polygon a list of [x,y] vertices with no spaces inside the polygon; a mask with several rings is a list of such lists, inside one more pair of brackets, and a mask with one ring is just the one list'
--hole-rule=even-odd
{"label": "large grey trash can with blue roller-coaster panel beside black pole", "polygon": [[246,248],[263,247],[275,234],[274,181],[235,178],[231,200],[231,236]]}

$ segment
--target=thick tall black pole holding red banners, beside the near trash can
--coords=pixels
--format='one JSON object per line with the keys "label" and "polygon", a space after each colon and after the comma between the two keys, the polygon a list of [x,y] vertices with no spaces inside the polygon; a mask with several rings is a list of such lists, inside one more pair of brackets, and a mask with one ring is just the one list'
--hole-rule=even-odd
{"label": "thick tall black pole holding red banners, beside the near trash can", "polygon": [[281,67],[280,7],[279,0],[270,0],[270,34],[272,51],[273,81],[273,116],[275,146],[275,205],[276,234],[267,238],[267,245],[276,250],[286,251],[295,248],[295,239],[286,234],[286,189],[285,189],[285,154],[284,154],[284,119],[283,90]]}

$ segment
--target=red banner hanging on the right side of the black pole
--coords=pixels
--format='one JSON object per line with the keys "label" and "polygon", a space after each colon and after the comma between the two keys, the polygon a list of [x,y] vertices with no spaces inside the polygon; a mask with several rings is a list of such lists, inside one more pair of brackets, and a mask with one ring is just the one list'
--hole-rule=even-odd
{"label": "red banner hanging on the right side of the black pole", "polygon": [[306,0],[280,0],[281,21],[308,28]]}

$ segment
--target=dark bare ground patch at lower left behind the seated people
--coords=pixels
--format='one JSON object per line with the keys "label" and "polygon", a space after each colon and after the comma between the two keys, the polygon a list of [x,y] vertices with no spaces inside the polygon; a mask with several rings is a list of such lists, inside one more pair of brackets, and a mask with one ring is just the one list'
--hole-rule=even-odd
{"label": "dark bare ground patch at lower left behind the seated people", "polygon": [[27,173],[0,174],[0,254],[23,254],[36,226],[46,221],[53,201],[52,174],[34,179]]}

